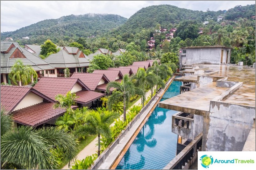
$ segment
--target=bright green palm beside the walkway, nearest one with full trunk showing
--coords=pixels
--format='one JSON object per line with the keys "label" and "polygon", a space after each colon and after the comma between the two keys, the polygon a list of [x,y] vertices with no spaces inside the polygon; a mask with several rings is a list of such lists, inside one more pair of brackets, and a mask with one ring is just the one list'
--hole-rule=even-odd
{"label": "bright green palm beside the walkway, nearest one with full trunk showing", "polygon": [[112,137],[112,131],[110,124],[114,119],[120,115],[116,112],[109,110],[89,110],[84,116],[85,122],[88,122],[88,125],[81,125],[77,127],[77,133],[80,135],[98,135],[98,156],[100,155],[100,135],[105,138]]}

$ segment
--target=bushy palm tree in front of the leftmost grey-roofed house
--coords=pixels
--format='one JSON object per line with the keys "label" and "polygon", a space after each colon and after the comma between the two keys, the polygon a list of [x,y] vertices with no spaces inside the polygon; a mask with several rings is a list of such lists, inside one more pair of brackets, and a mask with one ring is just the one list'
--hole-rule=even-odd
{"label": "bushy palm tree in front of the leftmost grey-roofed house", "polygon": [[37,72],[31,66],[24,66],[21,60],[17,60],[11,67],[11,72],[8,76],[13,84],[18,85],[18,81],[19,86],[21,86],[21,83],[27,85],[32,79],[36,79]]}

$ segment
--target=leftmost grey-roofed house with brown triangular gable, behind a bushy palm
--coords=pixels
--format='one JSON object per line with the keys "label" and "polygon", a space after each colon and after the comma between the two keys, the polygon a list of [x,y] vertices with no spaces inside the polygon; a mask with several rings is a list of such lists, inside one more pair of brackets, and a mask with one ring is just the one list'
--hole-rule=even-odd
{"label": "leftmost grey-roofed house with brown triangular gable, behind a bushy palm", "polygon": [[8,74],[11,72],[11,67],[18,59],[21,60],[25,66],[32,66],[37,72],[38,78],[42,76],[44,71],[54,70],[54,67],[47,61],[42,60],[25,48],[20,47],[17,42],[1,41],[1,83],[4,82],[9,85],[13,84],[9,79]]}

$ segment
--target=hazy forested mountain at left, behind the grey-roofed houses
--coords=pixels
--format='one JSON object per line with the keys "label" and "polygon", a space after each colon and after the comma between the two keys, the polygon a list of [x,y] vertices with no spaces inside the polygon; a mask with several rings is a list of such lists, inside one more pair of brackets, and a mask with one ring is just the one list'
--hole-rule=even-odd
{"label": "hazy forested mountain at left, behind the grey-roofed houses", "polygon": [[103,32],[118,27],[127,19],[113,14],[85,14],[62,16],[37,22],[12,32],[1,33],[1,40],[12,37],[14,41],[28,36],[27,44],[43,44],[47,38],[57,43],[59,40],[68,41],[70,38],[100,35]]}

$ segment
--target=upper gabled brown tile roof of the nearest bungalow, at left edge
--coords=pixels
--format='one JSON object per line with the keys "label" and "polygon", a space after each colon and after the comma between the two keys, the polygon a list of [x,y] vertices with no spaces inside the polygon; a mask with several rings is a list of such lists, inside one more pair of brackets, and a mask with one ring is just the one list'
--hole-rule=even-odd
{"label": "upper gabled brown tile roof of the nearest bungalow, at left edge", "polygon": [[32,87],[1,85],[1,108],[4,107],[5,110],[11,112],[29,92],[33,92],[48,101],[54,102],[42,93],[32,89]]}

